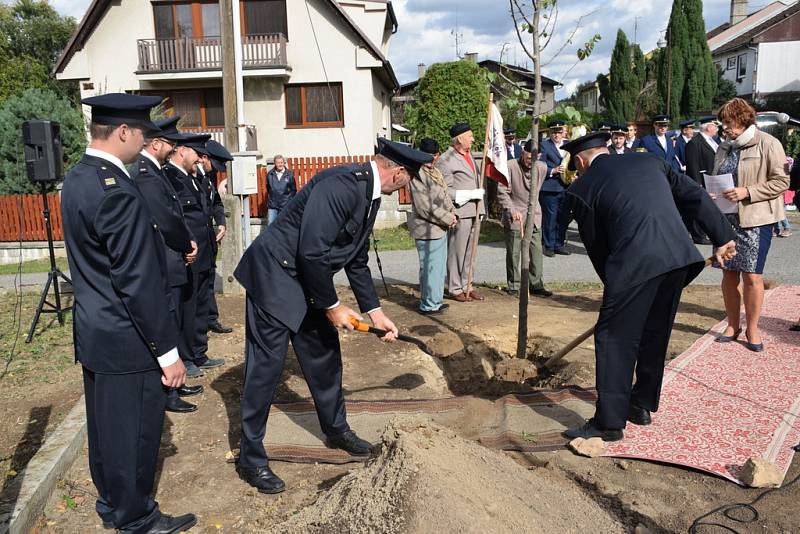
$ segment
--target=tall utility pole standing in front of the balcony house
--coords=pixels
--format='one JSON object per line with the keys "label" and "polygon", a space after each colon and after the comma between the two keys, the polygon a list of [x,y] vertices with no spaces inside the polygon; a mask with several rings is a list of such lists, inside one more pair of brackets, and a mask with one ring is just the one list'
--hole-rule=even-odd
{"label": "tall utility pole standing in front of the balcony house", "polygon": [[[222,40],[222,101],[225,115],[225,147],[230,152],[239,152],[239,109],[237,105],[236,77],[236,44],[234,40],[234,18],[232,2],[238,0],[220,0],[220,38]],[[239,21],[236,20],[236,24]],[[231,173],[233,166],[228,164],[228,191],[231,191]],[[244,252],[242,210],[239,199],[227,194],[222,199],[225,207],[225,225],[227,235],[220,243],[219,274],[222,277],[223,293],[241,293],[242,287],[233,277],[239,258]]]}

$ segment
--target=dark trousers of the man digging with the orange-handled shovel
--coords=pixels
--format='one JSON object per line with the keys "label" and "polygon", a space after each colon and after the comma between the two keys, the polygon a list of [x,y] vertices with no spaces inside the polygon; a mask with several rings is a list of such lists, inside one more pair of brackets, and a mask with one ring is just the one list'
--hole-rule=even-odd
{"label": "dark trousers of the man digging with the orange-handled shovel", "polygon": [[300,330],[286,325],[247,298],[242,442],[239,464],[267,465],[264,449],[267,417],[281,379],[289,342],[314,398],[319,424],[326,436],[350,430],[342,391],[339,334],[320,310],[308,310]]}

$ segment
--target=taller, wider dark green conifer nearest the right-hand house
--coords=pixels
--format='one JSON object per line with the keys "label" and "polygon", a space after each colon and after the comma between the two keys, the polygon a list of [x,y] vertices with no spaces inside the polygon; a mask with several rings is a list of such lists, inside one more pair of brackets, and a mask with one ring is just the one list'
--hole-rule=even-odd
{"label": "taller, wider dark green conifer nearest the right-hand house", "polygon": [[702,0],[672,3],[667,41],[658,68],[658,90],[665,102],[669,100],[669,111],[689,117],[710,110],[717,74],[706,40]]}

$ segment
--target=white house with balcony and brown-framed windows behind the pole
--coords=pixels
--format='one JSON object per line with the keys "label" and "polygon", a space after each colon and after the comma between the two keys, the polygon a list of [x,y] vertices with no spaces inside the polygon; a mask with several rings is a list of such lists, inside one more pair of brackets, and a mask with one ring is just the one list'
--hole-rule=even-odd
{"label": "white house with balcony and brown-framed windows behind the pole", "polygon": [[[399,88],[388,0],[240,0],[244,116],[265,156],[371,154]],[[182,126],[222,139],[215,0],[93,0],[55,74],[82,97],[158,94]]]}

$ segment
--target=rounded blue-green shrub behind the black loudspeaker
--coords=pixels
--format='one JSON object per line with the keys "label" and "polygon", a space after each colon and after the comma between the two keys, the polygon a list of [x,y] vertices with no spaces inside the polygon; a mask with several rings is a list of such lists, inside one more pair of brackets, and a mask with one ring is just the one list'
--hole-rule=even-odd
{"label": "rounded blue-green shrub behind the black loudspeaker", "polygon": [[78,163],[86,147],[83,115],[72,103],[50,89],[28,89],[8,98],[0,108],[0,194],[32,193],[22,144],[22,123],[53,120],[61,126],[64,168]]}

